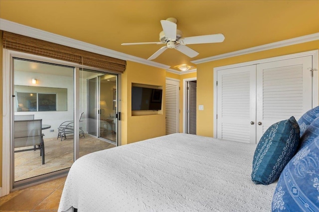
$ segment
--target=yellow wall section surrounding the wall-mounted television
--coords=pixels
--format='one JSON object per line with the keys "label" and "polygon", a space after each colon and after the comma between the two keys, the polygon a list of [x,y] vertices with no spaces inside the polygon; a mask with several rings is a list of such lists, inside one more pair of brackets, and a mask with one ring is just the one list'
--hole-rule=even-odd
{"label": "yellow wall section surrounding the wall-mounted television", "polygon": [[[165,98],[159,114],[132,116],[132,83],[161,86],[165,90],[165,73],[160,68],[127,62],[122,74],[122,144],[165,135]],[[164,92],[163,92],[164,94]]]}

